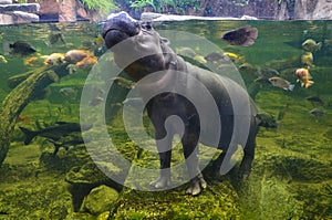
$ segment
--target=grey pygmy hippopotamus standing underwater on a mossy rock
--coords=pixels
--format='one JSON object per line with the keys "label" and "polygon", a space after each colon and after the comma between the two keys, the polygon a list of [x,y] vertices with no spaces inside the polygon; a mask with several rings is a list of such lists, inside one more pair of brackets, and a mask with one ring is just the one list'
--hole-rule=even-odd
{"label": "grey pygmy hippopotamus standing underwater on a mossy rock", "polygon": [[[249,174],[258,122],[257,108],[242,86],[185,62],[149,23],[134,20],[126,12],[110,14],[102,35],[116,65],[135,82],[142,82],[137,87],[155,128],[160,160],[159,178],[151,182],[152,187],[170,186],[172,140],[176,134],[180,136],[190,177],[187,193],[198,195],[207,186],[198,166],[199,143],[222,149],[214,161],[221,175],[231,168],[231,155],[241,146],[239,175]],[[162,92],[155,94],[156,91]]]}

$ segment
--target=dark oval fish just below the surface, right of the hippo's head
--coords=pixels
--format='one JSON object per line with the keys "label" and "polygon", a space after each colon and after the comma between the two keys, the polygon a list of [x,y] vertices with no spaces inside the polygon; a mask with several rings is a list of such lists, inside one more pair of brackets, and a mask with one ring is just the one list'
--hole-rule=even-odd
{"label": "dark oval fish just below the surface, right of the hippo's head", "polygon": [[226,32],[221,39],[227,41],[231,45],[249,46],[255,43],[257,36],[258,36],[257,28],[251,28],[250,25],[246,25]]}

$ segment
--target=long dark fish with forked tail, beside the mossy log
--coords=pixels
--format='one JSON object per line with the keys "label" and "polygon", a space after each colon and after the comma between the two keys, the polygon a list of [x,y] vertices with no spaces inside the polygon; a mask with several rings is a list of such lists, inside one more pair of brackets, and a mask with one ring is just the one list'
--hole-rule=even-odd
{"label": "long dark fish with forked tail, beside the mossy log", "polygon": [[72,133],[87,130],[91,127],[92,125],[80,125],[77,123],[56,122],[56,125],[39,130],[30,130],[25,127],[20,127],[20,129],[25,135],[24,145],[29,145],[31,140],[37,136],[50,138],[56,142],[61,137],[69,136]]}

